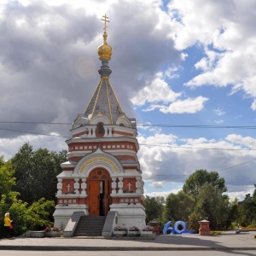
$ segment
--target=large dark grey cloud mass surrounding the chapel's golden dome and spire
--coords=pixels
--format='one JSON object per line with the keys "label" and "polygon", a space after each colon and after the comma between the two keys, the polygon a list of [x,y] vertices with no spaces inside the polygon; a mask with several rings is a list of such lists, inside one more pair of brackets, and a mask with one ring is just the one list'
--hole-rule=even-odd
{"label": "large dark grey cloud mass surrounding the chapel's golden dome and spire", "polygon": [[[2,119],[72,123],[84,111],[100,79],[97,70],[102,63],[96,49],[102,44],[104,14],[110,20],[108,44],[113,48],[109,61],[113,70],[111,82],[127,116],[136,116],[130,97],[140,90],[137,104],[141,100],[159,101],[163,95],[167,96],[166,102],[180,96],[163,80],[154,81],[159,97],[155,97],[154,86],[146,84],[154,80],[161,65],[166,66],[165,75],[175,76],[175,64],[182,60],[182,53],[174,49],[173,40],[166,33],[171,31],[173,22],[160,4],[156,0],[3,3],[0,10],[0,32],[4,34],[0,38],[0,48],[4,49],[0,55]],[[24,126],[18,124],[14,128],[24,131]],[[26,129],[37,133],[53,130],[69,135],[67,127],[61,125],[31,125]],[[20,135],[0,131],[0,137]]]}

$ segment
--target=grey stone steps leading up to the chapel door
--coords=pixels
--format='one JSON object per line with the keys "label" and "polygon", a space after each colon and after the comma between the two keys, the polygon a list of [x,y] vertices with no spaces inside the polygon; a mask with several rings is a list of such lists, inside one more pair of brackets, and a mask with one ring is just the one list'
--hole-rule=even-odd
{"label": "grey stone steps leading up to the chapel door", "polygon": [[102,236],[106,216],[82,216],[73,236]]}

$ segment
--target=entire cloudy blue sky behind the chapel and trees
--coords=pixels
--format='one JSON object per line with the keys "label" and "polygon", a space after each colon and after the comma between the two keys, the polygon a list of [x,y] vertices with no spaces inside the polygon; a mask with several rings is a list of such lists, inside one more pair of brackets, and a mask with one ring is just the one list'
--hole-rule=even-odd
{"label": "entire cloudy blue sky behind the chapel and trees", "polygon": [[109,67],[137,119],[145,194],[177,193],[199,169],[231,200],[256,183],[254,0],[0,0],[0,155],[67,149],[71,124]]}

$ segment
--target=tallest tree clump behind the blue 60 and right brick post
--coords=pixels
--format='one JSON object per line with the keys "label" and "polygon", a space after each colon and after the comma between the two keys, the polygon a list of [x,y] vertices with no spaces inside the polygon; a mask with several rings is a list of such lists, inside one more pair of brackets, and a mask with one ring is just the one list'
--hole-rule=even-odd
{"label": "tallest tree clump behind the blue 60 and right brick post", "polygon": [[[227,188],[218,172],[197,170],[191,174],[177,195],[166,197],[166,220],[183,220],[189,230],[199,229],[198,221],[207,218],[212,230],[225,229],[229,218],[236,217],[236,207],[230,212],[230,201],[222,195]],[[232,214],[231,214],[232,213]]]}

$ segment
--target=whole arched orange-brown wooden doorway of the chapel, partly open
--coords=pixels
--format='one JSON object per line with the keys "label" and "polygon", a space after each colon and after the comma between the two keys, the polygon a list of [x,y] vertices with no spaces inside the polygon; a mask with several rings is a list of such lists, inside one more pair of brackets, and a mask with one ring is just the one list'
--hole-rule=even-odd
{"label": "whole arched orange-brown wooden doorway of the chapel, partly open", "polygon": [[106,216],[110,204],[110,176],[103,168],[96,168],[89,175],[89,215]]}

